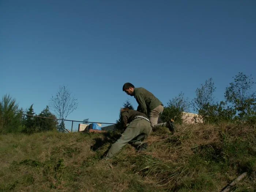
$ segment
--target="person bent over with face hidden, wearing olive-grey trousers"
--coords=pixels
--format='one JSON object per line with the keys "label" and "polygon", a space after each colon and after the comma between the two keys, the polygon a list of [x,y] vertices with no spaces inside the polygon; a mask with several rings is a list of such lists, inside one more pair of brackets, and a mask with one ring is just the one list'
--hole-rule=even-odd
{"label": "person bent over with face hidden, wearing olive-grey trousers", "polygon": [[[146,147],[146,143],[143,140],[150,135],[152,127],[147,116],[136,110],[123,108],[121,109],[121,118],[123,121],[125,131],[121,137],[110,147],[105,159],[108,160],[114,154],[121,150],[127,143],[131,143],[137,149],[143,149]],[[127,127],[127,124],[128,127]]]}

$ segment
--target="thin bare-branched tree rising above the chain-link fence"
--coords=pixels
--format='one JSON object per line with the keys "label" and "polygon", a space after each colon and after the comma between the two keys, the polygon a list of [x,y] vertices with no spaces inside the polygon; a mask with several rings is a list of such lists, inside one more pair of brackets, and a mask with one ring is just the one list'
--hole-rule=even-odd
{"label": "thin bare-branched tree rising above the chain-link fence", "polygon": [[65,120],[70,113],[76,110],[77,106],[77,99],[71,96],[65,86],[60,87],[55,97],[52,96],[50,99],[50,107],[61,120]]}

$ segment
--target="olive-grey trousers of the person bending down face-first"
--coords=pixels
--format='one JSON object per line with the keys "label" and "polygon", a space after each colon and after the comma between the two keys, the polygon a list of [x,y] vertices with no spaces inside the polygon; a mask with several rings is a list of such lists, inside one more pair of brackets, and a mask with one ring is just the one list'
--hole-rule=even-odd
{"label": "olive-grey trousers of the person bending down face-first", "polygon": [[149,121],[143,118],[135,118],[125,129],[121,137],[110,147],[105,159],[109,159],[121,150],[127,143],[142,144],[142,141],[150,135],[152,127]]}

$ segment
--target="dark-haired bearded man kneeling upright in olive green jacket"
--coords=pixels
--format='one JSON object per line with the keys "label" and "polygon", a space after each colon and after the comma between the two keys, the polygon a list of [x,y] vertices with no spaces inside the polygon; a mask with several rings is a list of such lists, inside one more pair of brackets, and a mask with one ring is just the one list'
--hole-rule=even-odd
{"label": "dark-haired bearded man kneeling upright in olive green jacket", "polygon": [[152,93],[142,87],[135,88],[131,83],[125,83],[123,91],[135,97],[139,104],[137,110],[149,117],[153,128],[165,126],[169,128],[171,132],[174,132],[174,121],[172,119],[165,123],[158,124],[159,114],[163,112],[163,103]]}

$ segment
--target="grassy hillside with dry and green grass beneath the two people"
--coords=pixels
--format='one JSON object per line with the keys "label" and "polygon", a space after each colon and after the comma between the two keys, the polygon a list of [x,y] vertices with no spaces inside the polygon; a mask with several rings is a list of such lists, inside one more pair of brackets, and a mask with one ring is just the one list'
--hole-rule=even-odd
{"label": "grassy hillside with dry and green grass beneath the two people", "polygon": [[127,145],[105,161],[118,133],[0,135],[0,191],[231,191],[256,189],[255,125],[162,128],[148,148]]}

